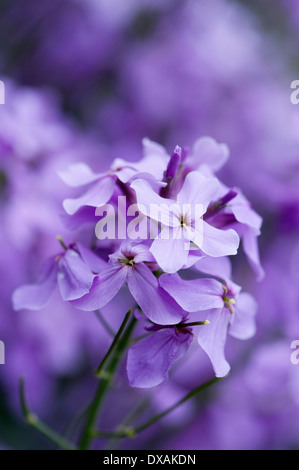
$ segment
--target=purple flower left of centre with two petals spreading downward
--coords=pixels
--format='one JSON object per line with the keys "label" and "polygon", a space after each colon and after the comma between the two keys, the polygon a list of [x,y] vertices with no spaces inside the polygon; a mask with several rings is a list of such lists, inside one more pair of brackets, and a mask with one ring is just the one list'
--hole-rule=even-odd
{"label": "purple flower left of centre with two petals spreading downward", "polygon": [[88,294],[72,302],[74,306],[87,311],[99,309],[110,302],[127,282],[132,296],[150,320],[160,325],[173,325],[182,320],[185,312],[159,286],[149,267],[155,260],[147,246],[124,243],[109,258]]}

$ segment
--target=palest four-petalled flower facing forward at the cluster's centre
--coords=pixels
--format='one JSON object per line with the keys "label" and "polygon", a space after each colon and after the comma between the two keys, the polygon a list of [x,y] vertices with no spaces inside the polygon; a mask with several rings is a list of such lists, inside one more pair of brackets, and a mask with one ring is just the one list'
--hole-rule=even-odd
{"label": "palest four-petalled flower facing forward at the cluster's centre", "polygon": [[176,201],[160,197],[141,179],[133,181],[131,187],[136,191],[140,211],[163,224],[151,252],[164,271],[174,273],[187,263],[190,242],[212,257],[237,253],[239,237],[234,230],[219,230],[202,220],[218,192],[216,178],[208,179],[192,171]]}

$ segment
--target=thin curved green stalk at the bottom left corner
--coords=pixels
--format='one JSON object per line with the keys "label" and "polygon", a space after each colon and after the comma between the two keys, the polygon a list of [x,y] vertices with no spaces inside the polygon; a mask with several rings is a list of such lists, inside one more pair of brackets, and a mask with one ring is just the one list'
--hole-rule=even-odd
{"label": "thin curved green stalk at the bottom left corner", "polygon": [[20,378],[20,400],[21,400],[21,407],[24,414],[24,418],[27,423],[37,429],[41,434],[46,436],[52,442],[54,442],[57,446],[61,447],[64,450],[75,450],[76,446],[68,441],[66,438],[57,434],[53,429],[51,429],[47,424],[40,421],[40,419],[28,408],[26,396],[25,396],[25,380],[24,378]]}

